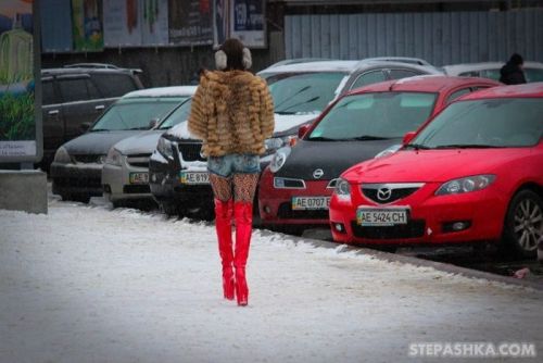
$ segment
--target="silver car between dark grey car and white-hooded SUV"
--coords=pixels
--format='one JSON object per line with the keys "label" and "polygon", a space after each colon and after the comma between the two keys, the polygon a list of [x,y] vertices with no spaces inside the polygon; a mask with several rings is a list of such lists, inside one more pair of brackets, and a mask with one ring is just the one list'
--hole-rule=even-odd
{"label": "silver car between dark grey car and white-hooded SUV", "polygon": [[188,99],[174,109],[156,128],[123,139],[110,149],[102,168],[102,184],[103,197],[113,206],[153,200],[149,189],[149,158],[162,134],[187,121],[190,105],[191,99]]}

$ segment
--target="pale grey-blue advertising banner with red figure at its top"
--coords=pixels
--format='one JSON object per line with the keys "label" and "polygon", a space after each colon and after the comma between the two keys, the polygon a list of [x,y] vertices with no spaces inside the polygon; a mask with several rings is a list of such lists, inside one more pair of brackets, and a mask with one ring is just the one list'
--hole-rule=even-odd
{"label": "pale grey-blue advertising banner with red figure at its top", "polygon": [[103,3],[104,46],[141,47],[168,43],[168,0]]}

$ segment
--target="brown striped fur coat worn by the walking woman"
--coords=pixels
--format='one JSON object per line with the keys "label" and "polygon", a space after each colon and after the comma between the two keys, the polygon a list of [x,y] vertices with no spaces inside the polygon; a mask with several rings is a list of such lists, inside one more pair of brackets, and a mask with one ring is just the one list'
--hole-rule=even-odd
{"label": "brown striped fur coat worn by the walking woman", "polygon": [[260,155],[274,133],[274,101],[266,82],[249,72],[204,72],[188,123],[207,157]]}

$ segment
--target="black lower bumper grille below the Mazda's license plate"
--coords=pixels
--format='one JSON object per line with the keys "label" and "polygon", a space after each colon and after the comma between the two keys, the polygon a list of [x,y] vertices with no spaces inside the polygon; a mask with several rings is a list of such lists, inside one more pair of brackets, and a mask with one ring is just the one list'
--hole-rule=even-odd
{"label": "black lower bumper grille below the Mazda's license plate", "polygon": [[413,220],[407,224],[379,227],[363,227],[356,221],[351,222],[351,228],[355,237],[369,239],[419,238],[425,235],[425,227],[424,220]]}

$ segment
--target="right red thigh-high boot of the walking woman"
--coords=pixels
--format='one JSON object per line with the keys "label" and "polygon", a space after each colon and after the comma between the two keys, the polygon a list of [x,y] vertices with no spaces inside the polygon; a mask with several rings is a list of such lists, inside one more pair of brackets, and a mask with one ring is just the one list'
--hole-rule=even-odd
{"label": "right red thigh-high boot of the walking woman", "polygon": [[253,204],[251,202],[235,202],[233,216],[236,221],[236,249],[233,267],[236,267],[236,297],[238,305],[249,302],[249,288],[245,280],[245,264],[249,256],[249,245],[253,229]]}

